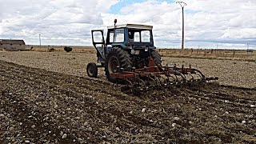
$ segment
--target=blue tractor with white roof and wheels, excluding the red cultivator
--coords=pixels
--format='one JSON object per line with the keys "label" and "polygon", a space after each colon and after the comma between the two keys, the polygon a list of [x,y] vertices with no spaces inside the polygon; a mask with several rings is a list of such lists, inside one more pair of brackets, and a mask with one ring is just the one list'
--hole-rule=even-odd
{"label": "blue tractor with white roof and wheels, excluding the red cultivator", "polygon": [[106,78],[116,82],[112,74],[120,70],[131,71],[150,65],[150,58],[161,65],[161,57],[154,50],[153,26],[124,24],[107,27],[106,39],[103,30],[91,30],[94,48],[97,50],[97,62],[87,65],[87,74],[97,77],[97,67],[105,67]]}

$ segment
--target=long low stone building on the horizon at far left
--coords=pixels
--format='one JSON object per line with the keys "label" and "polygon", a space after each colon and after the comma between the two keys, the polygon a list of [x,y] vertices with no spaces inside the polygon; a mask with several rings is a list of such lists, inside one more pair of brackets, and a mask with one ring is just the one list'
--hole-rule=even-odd
{"label": "long low stone building on the horizon at far left", "polygon": [[23,40],[0,39],[0,50],[26,50]]}

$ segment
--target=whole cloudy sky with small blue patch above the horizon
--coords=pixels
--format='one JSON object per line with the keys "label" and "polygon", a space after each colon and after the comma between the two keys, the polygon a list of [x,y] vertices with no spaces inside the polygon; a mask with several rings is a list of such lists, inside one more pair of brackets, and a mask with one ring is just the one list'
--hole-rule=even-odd
{"label": "whole cloudy sky with small blue patch above the horizon", "polygon": [[[256,0],[184,0],[185,48],[256,50]],[[0,39],[92,46],[90,30],[152,25],[154,44],[180,48],[182,8],[173,0],[0,0]]]}

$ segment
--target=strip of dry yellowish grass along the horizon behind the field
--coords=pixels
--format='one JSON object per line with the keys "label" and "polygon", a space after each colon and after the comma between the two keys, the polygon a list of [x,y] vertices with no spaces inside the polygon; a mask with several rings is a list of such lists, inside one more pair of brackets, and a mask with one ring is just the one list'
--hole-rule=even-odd
{"label": "strip of dry yellowish grass along the horizon behind the field", "polygon": [[[26,50],[34,51],[64,51],[65,46],[26,46]],[[72,52],[94,54],[93,46],[70,46]],[[197,49],[158,49],[162,57],[173,58],[209,58],[209,59],[229,59],[256,62],[256,50],[197,50]]]}

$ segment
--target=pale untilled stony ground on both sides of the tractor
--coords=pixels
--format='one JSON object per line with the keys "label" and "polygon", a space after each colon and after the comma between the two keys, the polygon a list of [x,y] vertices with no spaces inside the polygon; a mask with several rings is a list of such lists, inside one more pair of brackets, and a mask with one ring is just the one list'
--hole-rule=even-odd
{"label": "pale untilled stony ground on both sides of the tractor", "polygon": [[[87,77],[86,65],[89,62],[96,62],[96,54],[0,51],[0,60],[62,74]],[[201,70],[208,77],[218,77],[218,82],[221,85],[256,88],[256,62],[162,57],[162,64],[171,65],[174,63],[177,66],[189,66],[191,64],[192,67]],[[99,69],[98,78],[102,81],[106,80],[103,69]]]}

